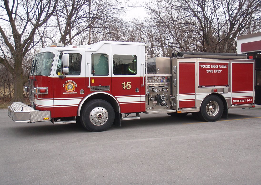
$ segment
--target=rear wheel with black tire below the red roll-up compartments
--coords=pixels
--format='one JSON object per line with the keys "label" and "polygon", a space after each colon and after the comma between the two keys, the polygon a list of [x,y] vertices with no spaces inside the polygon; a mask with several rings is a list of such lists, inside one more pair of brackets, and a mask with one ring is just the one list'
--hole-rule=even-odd
{"label": "rear wheel with black tire below the red roll-up compartments", "polygon": [[202,121],[215,122],[221,118],[223,110],[222,100],[218,96],[210,95],[203,100],[198,117]]}

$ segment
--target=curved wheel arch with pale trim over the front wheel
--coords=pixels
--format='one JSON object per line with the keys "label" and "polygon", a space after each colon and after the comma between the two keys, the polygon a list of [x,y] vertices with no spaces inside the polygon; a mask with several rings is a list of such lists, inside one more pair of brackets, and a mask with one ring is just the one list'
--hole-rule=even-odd
{"label": "curved wheel arch with pale trim over the front wheel", "polygon": [[93,100],[93,99],[105,100],[111,104],[114,111],[119,112],[119,113],[121,112],[120,104],[114,96],[112,96],[108,92],[93,92],[93,93],[89,94],[88,96],[85,96],[81,100],[81,102],[79,103],[79,106],[78,106],[77,116],[80,116],[82,106],[85,103],[87,103],[88,101]]}

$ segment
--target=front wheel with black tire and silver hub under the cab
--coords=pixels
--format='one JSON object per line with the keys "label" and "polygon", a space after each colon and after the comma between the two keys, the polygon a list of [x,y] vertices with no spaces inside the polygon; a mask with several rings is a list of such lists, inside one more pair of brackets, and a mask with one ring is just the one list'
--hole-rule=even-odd
{"label": "front wheel with black tire and silver hub under the cab", "polygon": [[81,108],[81,124],[91,132],[107,130],[114,122],[114,118],[114,110],[105,100],[91,100]]}

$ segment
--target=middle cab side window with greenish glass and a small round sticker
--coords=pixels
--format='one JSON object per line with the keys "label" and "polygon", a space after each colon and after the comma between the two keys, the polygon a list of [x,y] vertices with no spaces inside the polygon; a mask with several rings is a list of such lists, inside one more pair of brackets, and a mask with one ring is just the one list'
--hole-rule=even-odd
{"label": "middle cab side window with greenish glass and a small round sticker", "polygon": [[92,75],[106,76],[109,74],[109,56],[107,54],[92,54]]}

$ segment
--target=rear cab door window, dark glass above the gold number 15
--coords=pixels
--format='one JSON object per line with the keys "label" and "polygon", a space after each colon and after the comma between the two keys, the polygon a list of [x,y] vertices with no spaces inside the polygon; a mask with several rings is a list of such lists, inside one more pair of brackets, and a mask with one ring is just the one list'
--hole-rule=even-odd
{"label": "rear cab door window, dark glass above the gold number 15", "polygon": [[113,55],[113,74],[114,75],[135,75],[137,74],[136,55]]}

